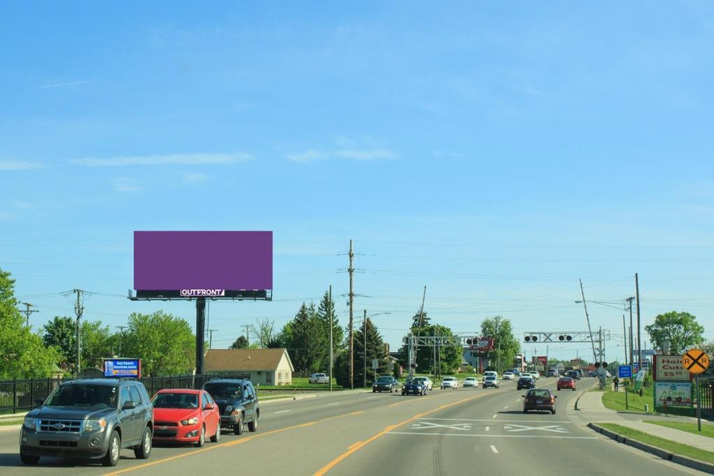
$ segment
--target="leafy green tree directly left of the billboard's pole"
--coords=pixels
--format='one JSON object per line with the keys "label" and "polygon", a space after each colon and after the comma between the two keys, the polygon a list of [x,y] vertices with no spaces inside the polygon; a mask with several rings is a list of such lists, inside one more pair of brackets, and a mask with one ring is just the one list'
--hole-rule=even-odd
{"label": "leafy green tree directly left of the billboard's pole", "polygon": [[162,310],[132,313],[121,353],[141,358],[146,376],[188,373],[196,363],[196,337],[186,320]]}

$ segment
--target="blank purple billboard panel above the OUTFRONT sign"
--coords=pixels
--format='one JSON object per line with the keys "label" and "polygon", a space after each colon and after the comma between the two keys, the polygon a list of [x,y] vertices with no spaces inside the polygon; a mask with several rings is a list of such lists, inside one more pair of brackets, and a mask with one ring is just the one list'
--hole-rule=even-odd
{"label": "blank purple billboard panel above the OUTFRONT sign", "polygon": [[181,296],[273,289],[272,231],[135,231],[134,289]]}

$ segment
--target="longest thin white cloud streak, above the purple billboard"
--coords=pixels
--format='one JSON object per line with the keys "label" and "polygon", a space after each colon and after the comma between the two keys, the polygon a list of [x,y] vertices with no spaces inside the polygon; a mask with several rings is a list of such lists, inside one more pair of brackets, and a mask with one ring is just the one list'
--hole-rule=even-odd
{"label": "longest thin white cloud streak, above the purple billboard", "polygon": [[169,165],[228,165],[253,158],[248,153],[176,153],[164,156],[121,156],[108,158],[75,158],[69,161],[85,167],[128,167]]}

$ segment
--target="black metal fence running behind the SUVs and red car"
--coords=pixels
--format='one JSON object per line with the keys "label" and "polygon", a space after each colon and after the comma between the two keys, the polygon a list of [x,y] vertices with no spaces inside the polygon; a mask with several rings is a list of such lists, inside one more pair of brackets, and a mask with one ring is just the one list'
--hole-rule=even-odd
{"label": "black metal fence running behind the SUVs and red car", "polygon": [[[141,378],[149,395],[162,388],[202,388],[212,378],[250,378],[248,373],[212,373],[204,375],[168,375]],[[26,412],[35,407],[35,400],[46,399],[61,383],[61,378],[0,380],[0,415]]]}

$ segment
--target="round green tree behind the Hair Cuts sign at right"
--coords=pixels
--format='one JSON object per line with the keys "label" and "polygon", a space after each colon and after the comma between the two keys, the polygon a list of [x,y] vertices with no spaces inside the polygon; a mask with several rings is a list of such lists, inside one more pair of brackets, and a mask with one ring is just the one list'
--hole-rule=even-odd
{"label": "round green tree behind the Hair Cuts sign at right", "polygon": [[704,328],[690,313],[678,313],[673,310],[660,314],[653,324],[645,325],[645,330],[657,349],[663,348],[665,341],[668,340],[671,354],[683,353],[683,350],[704,342],[702,336]]}

